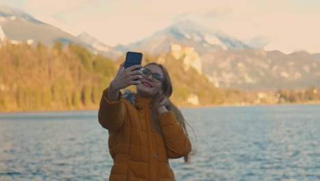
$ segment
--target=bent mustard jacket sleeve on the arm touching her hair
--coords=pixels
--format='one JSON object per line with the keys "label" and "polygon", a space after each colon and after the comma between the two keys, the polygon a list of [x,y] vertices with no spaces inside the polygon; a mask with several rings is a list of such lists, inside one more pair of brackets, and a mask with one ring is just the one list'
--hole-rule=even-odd
{"label": "bent mustard jacket sleeve on the arm touching her hair", "polygon": [[169,158],[180,158],[191,152],[191,143],[173,112],[158,116]]}

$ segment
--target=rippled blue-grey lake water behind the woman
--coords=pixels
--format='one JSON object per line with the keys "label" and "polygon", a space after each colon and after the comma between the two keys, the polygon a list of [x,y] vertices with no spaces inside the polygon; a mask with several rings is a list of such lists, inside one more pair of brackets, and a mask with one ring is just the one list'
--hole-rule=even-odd
{"label": "rippled blue-grey lake water behind the woman", "polygon": [[[183,108],[197,140],[176,180],[320,180],[320,105]],[[97,111],[0,113],[0,180],[108,180]]]}

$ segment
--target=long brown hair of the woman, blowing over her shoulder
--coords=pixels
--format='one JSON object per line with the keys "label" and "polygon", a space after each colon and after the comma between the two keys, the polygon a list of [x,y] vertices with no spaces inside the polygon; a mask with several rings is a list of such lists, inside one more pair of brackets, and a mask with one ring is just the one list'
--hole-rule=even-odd
{"label": "long brown hair of the woman, blowing over her shoulder", "polygon": [[[176,105],[174,105],[172,103],[172,101],[170,101],[169,97],[172,95],[172,83],[171,83],[171,78],[170,75],[168,73],[168,70],[165,69],[165,67],[163,67],[162,64],[158,64],[156,62],[151,62],[149,64],[146,64],[146,66],[153,64],[153,65],[157,65],[160,67],[160,69],[163,71],[163,76],[165,77],[165,79],[162,82],[162,90],[163,93],[162,94],[157,94],[155,95],[155,97],[153,97],[152,102],[151,102],[151,117],[152,117],[152,125],[155,127],[155,129],[160,133],[162,133],[162,129],[161,129],[161,125],[159,123],[159,119],[157,117],[157,108],[159,107],[159,101],[161,99],[163,99],[163,95],[165,95],[165,97],[168,98],[169,104],[168,106],[166,106],[166,108],[168,110],[171,110],[174,113],[174,116],[176,117],[176,120],[178,121],[178,123],[180,123],[181,127],[183,128],[183,130],[185,131],[185,134],[189,137],[189,134],[187,132],[187,128],[186,126],[189,125],[189,123],[187,123],[187,121],[185,120],[185,117],[183,117],[183,114],[181,112],[181,110],[179,110]],[[145,67],[146,67],[145,66]],[[189,125],[189,127],[191,128],[191,126]],[[192,128],[191,128],[192,129]],[[192,129],[193,130],[193,129]],[[195,153],[195,150],[191,150],[192,153]],[[189,153],[190,154],[190,153]],[[189,162],[189,154],[185,155],[185,162]]]}

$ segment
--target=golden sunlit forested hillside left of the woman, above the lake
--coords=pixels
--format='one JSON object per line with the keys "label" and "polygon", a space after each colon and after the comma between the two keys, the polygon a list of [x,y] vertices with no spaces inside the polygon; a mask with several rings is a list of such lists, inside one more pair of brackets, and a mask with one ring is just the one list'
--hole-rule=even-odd
{"label": "golden sunlit forested hillside left of the woman, above the lake", "polygon": [[2,45],[0,110],[95,108],[116,64],[83,47]]}

